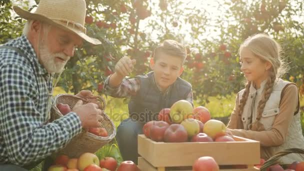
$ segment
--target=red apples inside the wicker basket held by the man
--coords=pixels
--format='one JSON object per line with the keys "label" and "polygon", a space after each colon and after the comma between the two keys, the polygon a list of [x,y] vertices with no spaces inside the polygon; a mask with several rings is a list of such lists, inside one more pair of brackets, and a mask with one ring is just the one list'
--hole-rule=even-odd
{"label": "red apples inside the wicker basket held by the man", "polygon": [[[58,103],[56,104],[56,107],[62,115],[65,115],[72,111],[68,104]],[[88,128],[88,132],[93,133],[97,136],[108,136],[107,130],[104,127],[90,127]]]}

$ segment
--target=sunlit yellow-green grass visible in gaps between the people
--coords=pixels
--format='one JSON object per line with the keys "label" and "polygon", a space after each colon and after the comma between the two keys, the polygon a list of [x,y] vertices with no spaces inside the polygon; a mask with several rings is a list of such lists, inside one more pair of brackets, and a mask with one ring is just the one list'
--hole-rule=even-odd
{"label": "sunlit yellow-green grass visible in gaps between the people", "polygon": [[[64,90],[60,88],[56,88],[54,90],[54,95],[58,93],[65,93]],[[128,109],[127,109],[127,99],[122,98],[113,98],[110,96],[106,97],[106,109],[105,113],[112,119],[115,126],[117,127],[121,120],[128,117]],[[211,113],[212,117],[223,117],[229,116],[235,102],[235,94],[231,94],[227,97],[221,98],[210,97],[209,103],[205,105]],[[304,103],[304,97],[300,98],[300,104]],[[196,101],[194,101],[194,106],[199,106]],[[303,112],[303,111],[302,111]],[[302,116],[303,114],[301,114]],[[304,125],[304,118],[301,119],[302,125]],[[104,156],[112,156],[118,160],[118,162],[122,161],[121,155],[119,153],[119,149],[117,143],[113,141],[110,144],[104,145],[95,153],[98,158],[103,158]],[[39,171],[41,170],[41,163],[37,165],[35,168],[31,169],[31,171]]]}

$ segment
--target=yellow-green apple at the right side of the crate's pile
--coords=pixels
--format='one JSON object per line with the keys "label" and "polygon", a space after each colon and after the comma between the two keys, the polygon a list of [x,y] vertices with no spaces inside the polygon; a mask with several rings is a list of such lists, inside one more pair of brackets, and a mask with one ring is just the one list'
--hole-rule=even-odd
{"label": "yellow-green apple at the right side of the crate's pile", "polygon": [[225,134],[226,125],[220,120],[210,119],[203,125],[203,132],[214,139],[220,134]]}

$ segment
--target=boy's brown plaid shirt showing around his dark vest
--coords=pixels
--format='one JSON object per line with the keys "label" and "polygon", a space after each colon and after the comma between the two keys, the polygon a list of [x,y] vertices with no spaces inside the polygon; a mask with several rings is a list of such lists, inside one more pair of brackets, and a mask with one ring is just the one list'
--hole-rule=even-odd
{"label": "boy's brown plaid shirt showing around his dark vest", "polygon": [[[117,87],[111,87],[109,85],[109,77],[110,75],[105,79],[104,81],[104,92],[107,95],[113,96],[113,97],[130,97],[132,95],[136,95],[140,88],[140,82],[138,78],[129,78],[129,79],[123,79],[119,86]],[[154,78],[153,83],[156,85]],[[157,85],[156,85],[157,86]],[[169,86],[163,94],[166,94],[171,86]],[[193,93],[190,91],[185,98],[185,100],[189,101],[191,104],[193,104]]]}

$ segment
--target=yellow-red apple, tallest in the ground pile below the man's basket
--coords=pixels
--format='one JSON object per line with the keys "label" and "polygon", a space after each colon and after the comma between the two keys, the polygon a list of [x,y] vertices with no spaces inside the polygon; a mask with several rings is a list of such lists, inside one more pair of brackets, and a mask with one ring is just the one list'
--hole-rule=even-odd
{"label": "yellow-red apple, tallest in the ground pile below the man's basket", "polygon": [[79,170],[84,170],[84,168],[90,164],[96,164],[99,166],[99,159],[95,154],[85,152],[79,156],[77,161]]}

